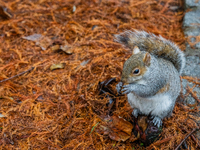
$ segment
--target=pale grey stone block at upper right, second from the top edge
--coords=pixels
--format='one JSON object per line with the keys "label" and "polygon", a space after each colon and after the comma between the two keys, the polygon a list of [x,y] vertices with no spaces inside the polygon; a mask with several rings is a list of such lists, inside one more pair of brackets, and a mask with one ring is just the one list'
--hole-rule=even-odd
{"label": "pale grey stone block at upper right, second from the top edge", "polygon": [[200,9],[187,12],[183,19],[183,27],[193,27],[197,24],[200,24]]}

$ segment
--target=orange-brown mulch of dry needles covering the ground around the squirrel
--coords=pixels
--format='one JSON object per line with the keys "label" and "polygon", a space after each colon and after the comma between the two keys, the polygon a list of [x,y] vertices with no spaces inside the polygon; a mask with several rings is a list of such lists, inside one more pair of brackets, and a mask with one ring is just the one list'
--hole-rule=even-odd
{"label": "orange-brown mulch of dry needles covering the ground around the squirrel", "polygon": [[[0,5],[1,149],[145,149],[133,137],[123,141],[98,131],[111,99],[111,115],[133,121],[126,96],[116,96],[114,88],[131,52],[113,37],[144,30],[184,50],[182,0],[0,0]],[[99,95],[100,83],[112,78],[115,96]],[[196,104],[179,100],[159,139],[146,149],[174,149],[182,141],[186,149],[198,149],[193,132],[200,118],[192,113],[200,100],[193,88],[180,99],[191,94]]]}

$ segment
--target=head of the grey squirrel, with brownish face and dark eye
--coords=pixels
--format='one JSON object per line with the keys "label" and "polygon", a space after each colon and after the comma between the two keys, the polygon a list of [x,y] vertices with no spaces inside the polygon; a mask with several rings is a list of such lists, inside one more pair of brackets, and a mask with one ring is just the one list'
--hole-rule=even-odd
{"label": "head of the grey squirrel, with brownish face and dark eye", "polygon": [[125,84],[134,83],[142,79],[150,66],[151,55],[148,52],[140,51],[136,46],[132,56],[124,63],[121,81]]}

